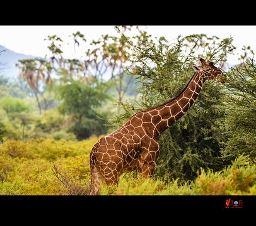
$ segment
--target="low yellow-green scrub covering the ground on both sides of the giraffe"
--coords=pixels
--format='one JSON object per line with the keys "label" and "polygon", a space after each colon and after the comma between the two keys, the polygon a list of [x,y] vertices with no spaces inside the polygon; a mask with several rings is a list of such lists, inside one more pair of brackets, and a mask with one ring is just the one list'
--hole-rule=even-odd
{"label": "low yellow-green scrub covering the ground on both sides of the giraffe", "polygon": [[[0,195],[86,195],[90,151],[98,138],[7,139],[0,151]],[[194,181],[180,184],[126,173],[118,186],[103,183],[100,195],[256,195],[256,167],[240,156],[221,171],[201,169]]]}

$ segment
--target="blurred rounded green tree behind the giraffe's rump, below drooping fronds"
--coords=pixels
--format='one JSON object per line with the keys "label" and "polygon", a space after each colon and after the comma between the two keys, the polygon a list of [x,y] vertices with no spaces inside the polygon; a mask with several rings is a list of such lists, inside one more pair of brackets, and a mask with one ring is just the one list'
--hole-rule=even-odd
{"label": "blurred rounded green tree behind the giraffe's rump, below drooping fronds", "polygon": [[61,114],[72,115],[73,122],[69,124],[67,132],[73,132],[76,138],[86,139],[91,135],[107,132],[107,121],[98,119],[96,109],[107,99],[98,87],[90,86],[81,81],[66,80],[66,85],[59,85],[55,93],[61,105],[57,107]]}

